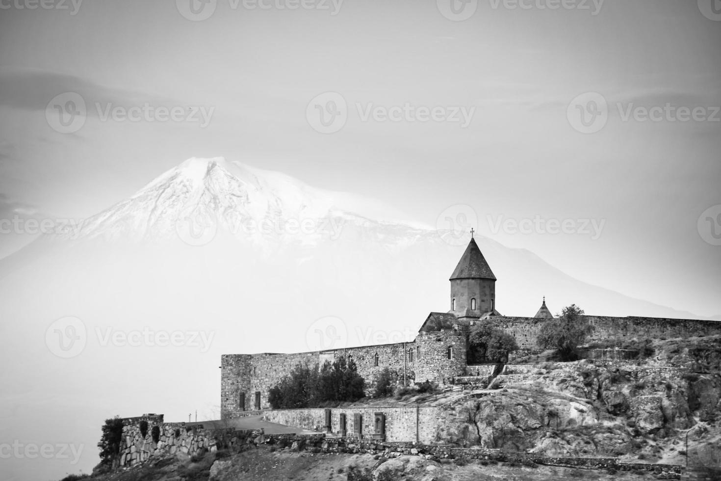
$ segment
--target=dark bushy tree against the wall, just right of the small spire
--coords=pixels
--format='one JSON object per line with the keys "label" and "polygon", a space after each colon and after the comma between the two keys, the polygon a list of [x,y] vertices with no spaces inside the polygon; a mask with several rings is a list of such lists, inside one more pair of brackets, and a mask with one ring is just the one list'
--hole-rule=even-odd
{"label": "dark bushy tree against the wall, just right of the small spire", "polygon": [[563,361],[578,359],[578,346],[593,332],[583,309],[575,304],[563,308],[558,319],[544,323],[538,337],[542,348],[556,349]]}

